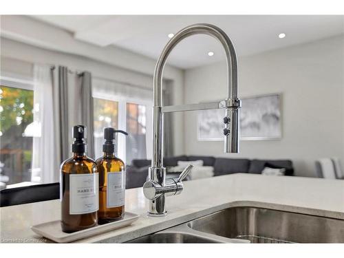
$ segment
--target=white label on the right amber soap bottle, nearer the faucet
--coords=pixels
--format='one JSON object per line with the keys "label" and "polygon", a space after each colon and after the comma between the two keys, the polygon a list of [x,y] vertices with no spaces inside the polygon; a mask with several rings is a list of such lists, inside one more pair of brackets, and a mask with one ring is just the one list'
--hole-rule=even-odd
{"label": "white label on the right amber soap bottle, nearer the faucet", "polygon": [[107,173],[107,208],[125,205],[125,171]]}

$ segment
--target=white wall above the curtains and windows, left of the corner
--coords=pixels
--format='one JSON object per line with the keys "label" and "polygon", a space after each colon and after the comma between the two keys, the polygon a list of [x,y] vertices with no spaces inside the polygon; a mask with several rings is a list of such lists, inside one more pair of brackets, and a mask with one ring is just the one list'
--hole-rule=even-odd
{"label": "white wall above the curtains and windows, left of the corner", "polygon": [[[118,47],[97,47],[76,41],[73,35],[25,16],[1,16],[1,70],[30,73],[33,63],[66,65],[93,76],[153,87],[155,60]],[[7,70],[7,71],[6,71]],[[173,103],[184,101],[184,71],[169,65],[164,79],[173,87]],[[153,97],[153,96],[152,96]],[[184,153],[183,114],[173,114],[173,147]]]}

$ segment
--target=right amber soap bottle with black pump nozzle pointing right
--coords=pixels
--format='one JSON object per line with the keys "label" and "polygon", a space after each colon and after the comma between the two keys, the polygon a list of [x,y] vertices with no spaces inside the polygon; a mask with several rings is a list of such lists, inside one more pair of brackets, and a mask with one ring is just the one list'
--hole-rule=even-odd
{"label": "right amber soap bottle with black pump nozzle pointing right", "polygon": [[127,132],[108,127],[104,129],[104,155],[96,160],[99,173],[98,224],[122,219],[125,212],[125,163],[115,155],[116,133]]}

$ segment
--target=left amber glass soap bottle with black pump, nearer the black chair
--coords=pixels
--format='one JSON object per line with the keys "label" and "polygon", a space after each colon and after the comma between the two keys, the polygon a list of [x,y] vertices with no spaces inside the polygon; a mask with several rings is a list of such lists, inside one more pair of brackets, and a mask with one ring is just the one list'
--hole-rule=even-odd
{"label": "left amber glass soap bottle with black pump, nearer the black chair", "polygon": [[99,207],[96,162],[86,156],[86,127],[73,127],[73,157],[61,164],[61,226],[72,233],[97,224]]}

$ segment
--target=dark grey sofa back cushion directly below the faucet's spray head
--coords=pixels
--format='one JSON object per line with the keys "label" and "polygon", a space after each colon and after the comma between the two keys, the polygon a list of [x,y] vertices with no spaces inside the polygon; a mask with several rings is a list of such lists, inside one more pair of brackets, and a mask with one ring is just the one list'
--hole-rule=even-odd
{"label": "dark grey sofa back cushion directly below the faucet's spray head", "polygon": [[227,175],[231,173],[247,173],[250,160],[234,158],[216,158],[214,175]]}

